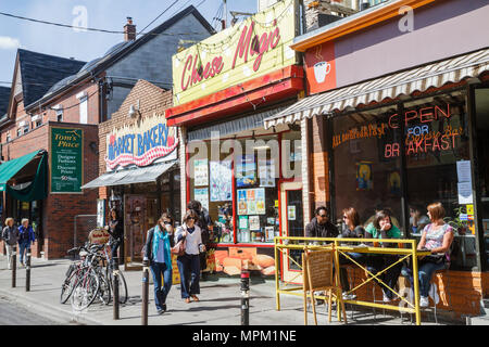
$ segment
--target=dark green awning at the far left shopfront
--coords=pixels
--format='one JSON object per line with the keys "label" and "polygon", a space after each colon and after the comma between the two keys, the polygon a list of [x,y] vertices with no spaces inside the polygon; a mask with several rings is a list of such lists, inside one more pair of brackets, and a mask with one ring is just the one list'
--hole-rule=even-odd
{"label": "dark green awning at the far left shopfront", "polygon": [[[15,187],[10,185],[11,181],[15,178],[17,174],[20,174],[27,165],[33,163],[36,158],[39,158],[39,164],[37,165],[36,171],[33,171],[33,180],[30,183],[22,189],[16,189]],[[32,165],[35,165],[33,163]],[[28,167],[26,168],[28,171]],[[48,160],[47,160],[47,152],[46,151],[36,151],[24,155],[20,158],[12,159],[10,162],[3,163],[0,165],[0,192],[7,192],[12,197],[23,201],[23,202],[32,202],[37,200],[43,200],[48,196],[47,190],[47,170],[48,170]],[[24,170],[25,171],[25,170]],[[26,172],[22,172],[25,176]],[[30,176],[30,175],[28,175]]]}

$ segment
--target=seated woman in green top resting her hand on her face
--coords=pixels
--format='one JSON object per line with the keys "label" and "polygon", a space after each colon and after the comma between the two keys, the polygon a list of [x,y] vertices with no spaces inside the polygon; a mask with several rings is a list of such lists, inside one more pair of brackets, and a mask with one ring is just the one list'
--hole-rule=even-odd
{"label": "seated woman in green top resting her hand on her face", "polygon": [[[390,219],[390,211],[388,209],[379,210],[375,214],[374,221],[369,223],[365,229],[365,239],[400,239],[401,231]],[[372,244],[371,244],[372,245]],[[396,247],[394,243],[380,243],[381,247]],[[367,270],[374,275],[384,269],[390,267],[393,262],[398,261],[399,257],[396,255],[369,255],[367,258]],[[387,271],[384,271],[378,278],[386,285],[376,281],[383,288],[384,303],[390,303],[393,299],[393,288],[398,283],[399,275],[401,274],[402,262],[394,265]]]}

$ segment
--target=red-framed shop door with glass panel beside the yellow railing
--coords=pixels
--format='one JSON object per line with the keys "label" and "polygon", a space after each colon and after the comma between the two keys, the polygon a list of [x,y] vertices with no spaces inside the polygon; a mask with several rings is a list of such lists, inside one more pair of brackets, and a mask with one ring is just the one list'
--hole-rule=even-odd
{"label": "red-framed shop door with glass panel beside the yellow railing", "polygon": [[[302,183],[286,182],[280,185],[280,234],[281,236],[302,237],[304,235],[304,218],[302,213]],[[302,252],[287,249],[281,254],[281,278],[284,281],[302,283]],[[293,260],[292,260],[293,259]]]}

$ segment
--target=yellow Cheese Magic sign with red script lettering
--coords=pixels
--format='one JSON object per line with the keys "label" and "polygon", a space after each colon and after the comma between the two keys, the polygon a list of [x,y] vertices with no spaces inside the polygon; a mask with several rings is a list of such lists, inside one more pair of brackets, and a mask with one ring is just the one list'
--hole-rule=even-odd
{"label": "yellow Cheese Magic sign with red script lettering", "polygon": [[277,2],[173,56],[174,105],[296,64],[297,1]]}

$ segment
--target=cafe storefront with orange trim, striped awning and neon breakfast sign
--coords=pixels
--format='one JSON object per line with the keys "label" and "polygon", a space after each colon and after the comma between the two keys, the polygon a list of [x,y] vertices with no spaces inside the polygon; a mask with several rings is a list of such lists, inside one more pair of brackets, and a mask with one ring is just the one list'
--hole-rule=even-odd
{"label": "cafe storefront with orange trim, striped awning and neon breakfast sign", "polygon": [[477,316],[489,293],[487,2],[379,2],[293,40],[308,97],[265,128],[303,125],[304,215],[325,205],[341,223],[352,206],[366,227],[389,208],[402,239],[419,241],[414,211],[441,202],[456,232],[450,268],[434,281],[439,306]]}

